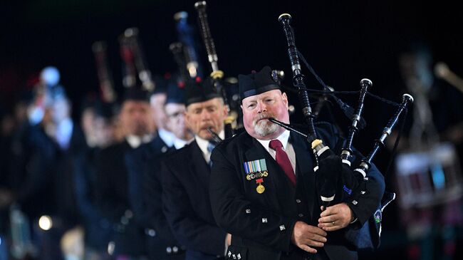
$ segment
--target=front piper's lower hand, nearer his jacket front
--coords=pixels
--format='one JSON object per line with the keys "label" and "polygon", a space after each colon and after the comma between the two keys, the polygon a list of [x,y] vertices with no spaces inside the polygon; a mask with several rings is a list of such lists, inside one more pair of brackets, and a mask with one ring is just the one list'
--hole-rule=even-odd
{"label": "front piper's lower hand, nearer his jacket front", "polygon": [[[315,247],[323,247],[326,242],[326,232],[318,227],[310,226],[304,222],[296,222],[291,241],[303,251],[316,254]],[[312,247],[311,247],[312,246]]]}

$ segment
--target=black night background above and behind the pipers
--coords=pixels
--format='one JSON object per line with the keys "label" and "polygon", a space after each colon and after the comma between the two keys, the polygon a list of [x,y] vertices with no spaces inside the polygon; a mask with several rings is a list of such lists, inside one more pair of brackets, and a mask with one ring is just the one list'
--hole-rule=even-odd
{"label": "black night background above and behind the pipers", "polygon": [[[456,3],[456,2],[455,2]],[[207,13],[219,56],[227,76],[260,70],[265,65],[283,69],[286,85],[291,76],[286,39],[277,18],[293,16],[296,45],[318,75],[336,90],[358,90],[362,78],[373,80],[372,93],[400,100],[405,88],[397,57],[410,43],[424,43],[433,63],[444,61],[463,75],[462,12],[446,1],[208,1]],[[31,88],[45,66],[61,71],[61,84],[73,101],[75,118],[83,97],[98,90],[91,45],[108,43],[108,58],[116,88],[122,90],[118,36],[136,26],[153,74],[172,72],[176,66],[168,51],[177,41],[173,14],[189,13],[197,25],[194,1],[166,0],[41,0],[0,4],[0,107],[11,110]],[[199,39],[199,34],[198,34]],[[199,41],[202,43],[202,41]],[[199,55],[210,71],[206,53]],[[307,85],[320,87],[309,76]],[[291,97],[292,103],[297,103]],[[348,98],[355,100],[355,98]],[[445,100],[442,100],[445,102]],[[369,100],[365,108],[368,128],[356,140],[369,149],[393,108]],[[295,117],[297,117],[296,113]],[[300,119],[300,118],[299,118]],[[296,118],[296,120],[298,120]],[[387,152],[378,157],[380,169]],[[388,189],[394,189],[389,186]],[[394,204],[385,216],[380,256],[404,256],[405,233],[397,224]]]}

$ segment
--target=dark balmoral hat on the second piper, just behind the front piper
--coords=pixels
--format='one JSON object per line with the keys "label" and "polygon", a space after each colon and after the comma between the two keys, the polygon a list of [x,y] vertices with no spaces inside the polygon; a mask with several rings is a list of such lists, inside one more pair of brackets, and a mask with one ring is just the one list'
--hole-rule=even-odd
{"label": "dark balmoral hat on the second piper, just behind the front piper", "polygon": [[204,102],[212,98],[222,98],[214,87],[214,80],[207,77],[205,80],[197,78],[192,83],[188,83],[185,90],[185,105],[192,103]]}

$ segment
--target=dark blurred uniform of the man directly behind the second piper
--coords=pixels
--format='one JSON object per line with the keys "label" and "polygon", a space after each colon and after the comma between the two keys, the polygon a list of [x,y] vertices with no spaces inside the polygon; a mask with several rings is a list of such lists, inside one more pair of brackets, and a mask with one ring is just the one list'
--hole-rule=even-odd
{"label": "dark blurred uniform of the man directly behind the second piper", "polygon": [[125,155],[130,206],[135,222],[145,232],[149,259],[184,259],[182,246],[172,235],[162,212],[160,161],[173,151],[175,148],[168,147],[158,135]]}

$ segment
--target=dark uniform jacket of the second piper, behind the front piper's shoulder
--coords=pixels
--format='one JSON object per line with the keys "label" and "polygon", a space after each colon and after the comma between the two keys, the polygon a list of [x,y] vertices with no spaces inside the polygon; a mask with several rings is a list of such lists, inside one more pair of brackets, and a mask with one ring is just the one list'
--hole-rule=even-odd
{"label": "dark uniform jacket of the second piper, behind the front piper's shoulder", "polygon": [[172,232],[187,247],[186,259],[224,255],[225,236],[209,200],[210,167],[194,141],[162,163],[162,201]]}

